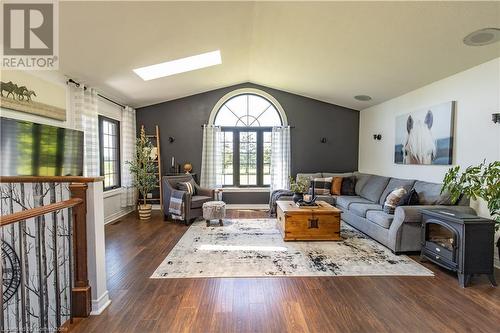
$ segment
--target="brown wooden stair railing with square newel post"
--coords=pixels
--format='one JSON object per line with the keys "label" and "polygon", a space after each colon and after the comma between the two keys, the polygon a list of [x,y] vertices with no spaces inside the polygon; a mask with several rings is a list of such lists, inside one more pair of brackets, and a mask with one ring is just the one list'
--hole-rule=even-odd
{"label": "brown wooden stair railing with square newel post", "polygon": [[[37,218],[46,214],[71,209],[71,223],[69,233],[71,252],[68,255],[71,280],[70,317],[88,317],[91,311],[91,288],[87,270],[87,183],[102,181],[103,177],[15,177],[1,176],[0,184],[36,184],[36,183],[67,183],[70,199],[38,206],[18,212],[13,212],[0,217],[0,227],[35,218],[37,223],[42,219]],[[14,185],[12,185],[14,186]],[[43,185],[41,185],[43,186]],[[55,185],[54,185],[55,186]],[[69,217],[68,217],[69,218]],[[21,230],[21,229],[19,229]],[[0,274],[2,271],[0,270]],[[0,315],[3,317],[3,313]],[[4,318],[0,318],[3,319]],[[60,323],[64,324],[64,323]]]}

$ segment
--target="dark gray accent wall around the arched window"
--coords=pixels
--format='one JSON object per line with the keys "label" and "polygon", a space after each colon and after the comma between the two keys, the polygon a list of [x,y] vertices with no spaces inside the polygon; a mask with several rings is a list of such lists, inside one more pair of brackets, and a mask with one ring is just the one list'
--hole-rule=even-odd
{"label": "dark gray accent wall around the arched window", "polygon": [[[200,173],[202,128],[215,104],[225,94],[256,88],[272,95],[283,107],[291,130],[292,175],[297,172],[347,172],[358,169],[359,112],[285,91],[243,83],[137,109],[137,128],[160,128],[163,174],[172,156],[191,162]],[[169,137],[175,141],[170,143]],[[327,139],[321,143],[321,138]],[[260,202],[248,202],[260,203]]]}

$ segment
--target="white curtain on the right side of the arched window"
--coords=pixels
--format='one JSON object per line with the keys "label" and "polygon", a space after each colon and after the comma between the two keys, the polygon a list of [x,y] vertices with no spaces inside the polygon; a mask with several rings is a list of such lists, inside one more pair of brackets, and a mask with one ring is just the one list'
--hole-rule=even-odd
{"label": "white curtain on the right side of the arched window", "polygon": [[273,127],[271,144],[271,190],[290,188],[290,126]]}

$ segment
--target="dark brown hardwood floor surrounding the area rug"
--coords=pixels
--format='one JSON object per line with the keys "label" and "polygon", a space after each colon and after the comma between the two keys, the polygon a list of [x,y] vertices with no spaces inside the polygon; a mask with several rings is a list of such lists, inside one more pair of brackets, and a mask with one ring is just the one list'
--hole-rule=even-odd
{"label": "dark brown hardwood floor surrounding the area rug", "polygon": [[[266,212],[229,211],[229,218]],[[135,215],[106,227],[111,305],[74,332],[500,332],[500,287],[434,277],[150,279],[187,227]],[[415,257],[416,259],[417,257]],[[497,277],[500,276],[497,270]]]}

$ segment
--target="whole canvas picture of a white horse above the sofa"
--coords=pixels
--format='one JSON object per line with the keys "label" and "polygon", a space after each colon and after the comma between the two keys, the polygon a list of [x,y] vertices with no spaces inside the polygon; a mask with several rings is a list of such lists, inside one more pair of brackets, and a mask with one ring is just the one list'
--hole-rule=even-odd
{"label": "whole canvas picture of a white horse above the sofa", "polygon": [[446,102],[397,116],[394,162],[452,164],[455,103]]}

